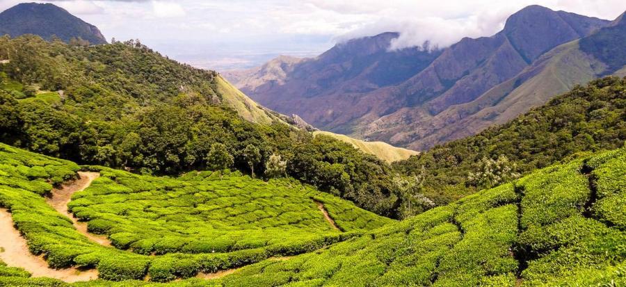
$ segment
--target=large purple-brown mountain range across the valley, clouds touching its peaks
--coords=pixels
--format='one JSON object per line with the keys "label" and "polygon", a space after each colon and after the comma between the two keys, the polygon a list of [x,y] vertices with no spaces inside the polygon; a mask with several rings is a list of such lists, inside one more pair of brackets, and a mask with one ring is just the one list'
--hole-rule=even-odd
{"label": "large purple-brown mountain range across the valley, clouds touching its peaks", "polygon": [[[563,77],[558,85],[545,75],[555,69],[559,51],[567,49],[561,44],[600,35],[598,30],[607,25],[607,20],[529,6],[511,15],[499,33],[463,38],[443,51],[389,51],[397,34],[384,33],[282,65],[286,68],[280,81],[267,77],[263,69],[232,80],[260,104],[280,113],[296,113],[320,129],[427,149],[511,120],[575,83],[610,74],[602,65],[578,67],[584,56],[576,55],[578,60],[563,59],[561,64],[568,64],[567,68],[556,69]],[[613,43],[609,47],[623,49],[618,38],[603,39]],[[373,64],[355,69],[362,67],[358,55],[372,50],[378,51],[367,57],[367,63]],[[589,57],[586,63],[602,61]],[[327,72],[330,79],[321,81],[320,71],[334,74]],[[542,75],[535,78],[538,74]],[[529,93],[534,96],[525,97]]]}

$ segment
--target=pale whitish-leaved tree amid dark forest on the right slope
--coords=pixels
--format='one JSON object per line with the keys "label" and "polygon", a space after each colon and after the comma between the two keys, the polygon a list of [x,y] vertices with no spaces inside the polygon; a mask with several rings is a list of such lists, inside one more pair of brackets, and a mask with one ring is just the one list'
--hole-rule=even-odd
{"label": "pale whitish-leaved tree amid dark forest on the right slope", "polygon": [[474,186],[491,188],[520,177],[520,174],[515,172],[517,165],[511,164],[504,155],[498,156],[497,160],[485,156],[478,165],[478,170],[470,172],[467,177]]}

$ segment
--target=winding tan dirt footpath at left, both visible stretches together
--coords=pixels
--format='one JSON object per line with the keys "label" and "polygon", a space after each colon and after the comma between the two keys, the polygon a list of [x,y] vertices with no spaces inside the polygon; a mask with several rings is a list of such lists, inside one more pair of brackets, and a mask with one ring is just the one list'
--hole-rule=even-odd
{"label": "winding tan dirt footpath at left, both visible stretches together", "polygon": [[[73,181],[63,189],[52,190],[52,197],[47,200],[48,204],[53,206],[59,213],[66,215],[72,219],[74,226],[88,238],[95,240],[97,243],[106,245],[108,240],[102,240],[98,236],[87,232],[86,224],[81,224],[74,219],[72,215],[67,213],[67,203],[74,192],[87,188],[91,181],[99,177],[97,172],[79,172],[80,179]],[[82,230],[81,230],[82,229]],[[110,245],[110,242],[108,242]],[[49,277],[59,279],[65,282],[89,281],[98,278],[98,272],[95,269],[79,270],[78,268],[52,269],[48,266],[44,256],[35,256],[29,251],[29,245],[26,238],[15,229],[11,213],[2,208],[0,209],[0,259],[8,266],[24,268],[30,272],[32,277]]]}

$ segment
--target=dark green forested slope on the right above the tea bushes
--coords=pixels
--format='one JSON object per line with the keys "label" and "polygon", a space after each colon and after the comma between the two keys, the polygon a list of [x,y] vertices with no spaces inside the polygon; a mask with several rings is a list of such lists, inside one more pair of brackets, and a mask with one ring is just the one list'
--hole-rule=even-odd
{"label": "dark green forested slope on the right above the tea bushes", "polygon": [[579,85],[545,106],[476,136],[394,163],[423,177],[419,191],[437,204],[510,181],[538,168],[626,141],[626,78]]}

